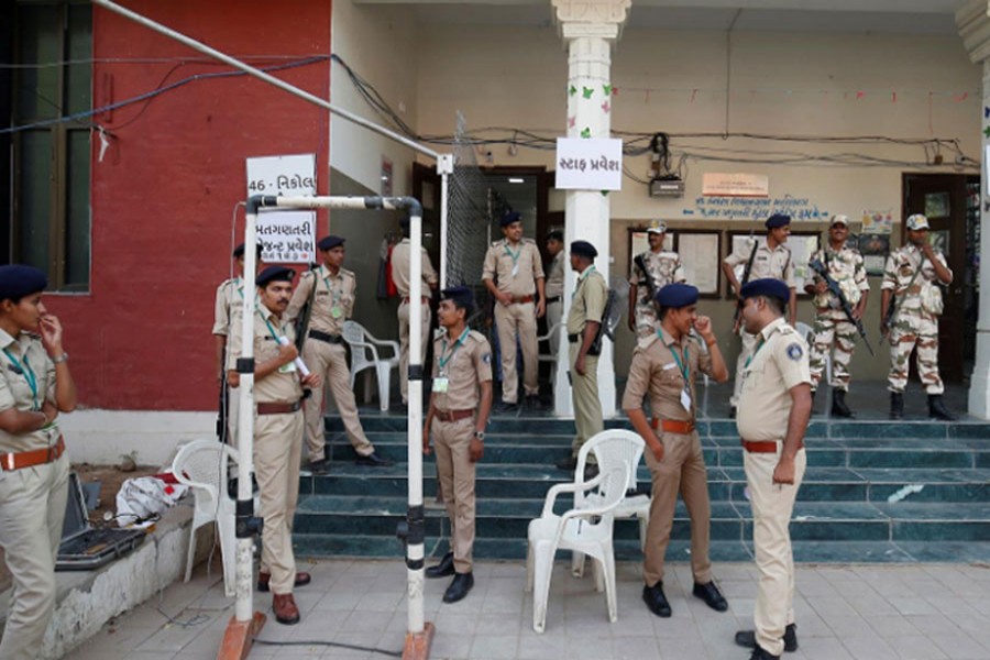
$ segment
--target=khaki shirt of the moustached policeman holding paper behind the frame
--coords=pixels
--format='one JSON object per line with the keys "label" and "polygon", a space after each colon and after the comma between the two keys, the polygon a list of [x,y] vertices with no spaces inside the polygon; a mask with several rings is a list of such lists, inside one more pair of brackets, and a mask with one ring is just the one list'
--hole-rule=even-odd
{"label": "khaki shirt of the moustached policeman holding paper behind the frame", "polygon": [[[266,322],[267,321],[267,322]],[[296,331],[285,317],[279,319],[264,305],[258,305],[254,312],[254,362],[255,364],[272,360],[278,355],[278,337],[287,337],[295,341]],[[230,350],[227,352],[227,369],[237,370],[238,358],[241,356],[241,326],[231,328]],[[254,402],[257,404],[294,404],[302,398],[302,385],[296,365],[289,362],[274,373],[254,382]]]}

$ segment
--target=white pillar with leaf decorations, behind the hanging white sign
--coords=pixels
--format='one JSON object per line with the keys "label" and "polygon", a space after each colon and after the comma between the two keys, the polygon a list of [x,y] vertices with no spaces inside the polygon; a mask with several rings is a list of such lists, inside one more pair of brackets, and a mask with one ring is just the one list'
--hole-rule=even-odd
{"label": "white pillar with leaf decorations, behind the hanging white sign", "polygon": [[[612,134],[612,44],[619,37],[631,0],[553,0],[560,33],[568,45],[568,138],[609,138]],[[609,201],[600,190],[568,190],[564,210],[564,246],[571,241],[591,242],[598,251],[595,266],[608,282],[610,268]],[[576,273],[564,278],[563,318],[566,319]],[[598,395],[606,418],[615,415],[613,344],[604,341],[598,358]],[[557,360],[554,409],[573,415],[568,383],[568,342],[561,342]]]}

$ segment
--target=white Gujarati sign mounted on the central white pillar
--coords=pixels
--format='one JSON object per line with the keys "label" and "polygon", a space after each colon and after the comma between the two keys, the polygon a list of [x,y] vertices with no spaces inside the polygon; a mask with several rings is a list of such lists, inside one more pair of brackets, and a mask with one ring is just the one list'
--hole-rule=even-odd
{"label": "white Gujarati sign mounted on the central white pillar", "polygon": [[622,190],[623,141],[557,139],[557,188]]}

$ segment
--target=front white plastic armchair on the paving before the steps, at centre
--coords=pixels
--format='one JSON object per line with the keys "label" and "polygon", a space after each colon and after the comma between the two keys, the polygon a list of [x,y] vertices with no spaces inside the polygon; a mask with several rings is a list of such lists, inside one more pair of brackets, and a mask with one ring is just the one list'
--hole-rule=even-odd
{"label": "front white plastic armchair on the paving before the steps, at centre", "polygon": [[[605,590],[608,620],[618,618],[615,594],[615,552],[612,548],[613,516],[626,495],[630,457],[642,439],[622,429],[602,431],[591,438],[578,454],[579,465],[594,451],[598,460],[598,476],[584,482],[583,471],[575,472],[573,484],[557,484],[547,493],[543,512],[529,521],[529,551],[526,560],[526,591],[532,591],[532,629],[542,632],[547,626],[547,600],[550,594],[550,576],[558,550],[572,550],[595,560],[595,590]],[[594,506],[573,508],[563,515],[553,513],[557,496],[597,490]]]}

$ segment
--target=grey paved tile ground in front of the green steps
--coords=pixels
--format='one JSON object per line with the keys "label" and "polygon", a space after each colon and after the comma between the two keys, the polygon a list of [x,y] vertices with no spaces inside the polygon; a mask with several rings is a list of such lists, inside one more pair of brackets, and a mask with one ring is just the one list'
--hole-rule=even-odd
{"label": "grey paved tile ground in front of the green steps", "polygon": [[[387,658],[367,650],[399,653],[406,629],[405,568],[398,561],[324,561],[300,565],[314,583],[296,592],[302,612],[297,626],[271,618],[251,658]],[[739,628],[751,627],[756,569],[750,563],[716,564],[729,601],[715,613],[690,595],[685,563],[669,566],[666,591],[673,617],[649,614],[639,600],[640,566],[618,572],[619,614],[609,624],[605,598],[591,578],[570,576],[558,562],[551,583],[547,631],[532,631],[532,605],[522,591],[519,563],[475,566],[476,585],[455,605],[441,603],[447,581],[427,581],[427,620],[437,636],[433,659],[526,660],[724,660],[748,658],[733,644]],[[887,660],[990,658],[990,565],[802,565],[798,569],[795,610],[801,648],[789,660]],[[268,609],[271,597],[256,595]],[[118,617],[89,642],[68,654],[74,660],[212,659],[232,615],[216,573],[200,572],[160,597]],[[173,622],[166,617],[170,616]],[[290,642],[270,646],[262,640]]]}

